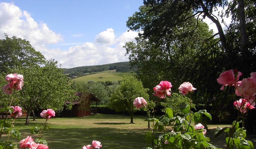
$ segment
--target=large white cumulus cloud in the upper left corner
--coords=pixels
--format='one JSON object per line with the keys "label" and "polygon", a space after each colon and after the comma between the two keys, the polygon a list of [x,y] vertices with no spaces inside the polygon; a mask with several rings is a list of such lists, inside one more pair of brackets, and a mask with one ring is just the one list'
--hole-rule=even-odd
{"label": "large white cumulus cloud in the upper left corner", "polygon": [[32,45],[54,44],[62,41],[61,34],[50,30],[43,22],[37,23],[27,11],[13,3],[0,3],[0,38],[17,36],[29,40]]}

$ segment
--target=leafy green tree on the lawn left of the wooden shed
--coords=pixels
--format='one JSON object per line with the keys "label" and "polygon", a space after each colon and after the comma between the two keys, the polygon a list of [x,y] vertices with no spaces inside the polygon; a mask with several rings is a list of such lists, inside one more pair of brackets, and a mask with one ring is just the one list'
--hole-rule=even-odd
{"label": "leafy green tree on the lawn left of the wooden shed", "polygon": [[29,124],[31,111],[37,108],[61,111],[65,101],[74,99],[69,79],[58,68],[57,61],[48,60],[43,67],[34,66],[18,71],[24,76],[19,104],[27,111],[25,124]]}

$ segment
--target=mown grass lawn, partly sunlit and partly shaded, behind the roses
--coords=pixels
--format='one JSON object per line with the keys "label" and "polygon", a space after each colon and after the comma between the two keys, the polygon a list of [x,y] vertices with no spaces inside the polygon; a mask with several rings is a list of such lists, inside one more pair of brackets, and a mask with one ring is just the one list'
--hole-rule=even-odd
{"label": "mown grass lawn, partly sunlit and partly shaded, behind the roses", "polygon": [[[91,144],[92,140],[98,140],[103,145],[102,149],[141,149],[145,147],[145,133],[150,129],[147,128],[147,122],[144,122],[146,116],[135,115],[135,124],[129,124],[130,117],[125,115],[106,115],[97,114],[79,118],[51,118],[48,120],[50,130],[43,132],[42,137],[46,138],[50,149],[81,149],[82,146]],[[16,120],[16,128],[22,132],[22,139],[27,135],[36,138],[38,134],[31,135],[30,128],[33,126],[41,126],[45,119],[37,118],[36,121],[30,121],[29,126],[25,126],[25,119]],[[206,133],[210,137],[214,145],[222,147],[223,139],[213,138],[213,128],[217,126],[229,125],[208,125],[210,130]],[[171,126],[167,127],[170,131]],[[6,135],[3,140],[6,139]],[[255,145],[255,136],[250,140]],[[18,139],[12,139],[18,143]]]}

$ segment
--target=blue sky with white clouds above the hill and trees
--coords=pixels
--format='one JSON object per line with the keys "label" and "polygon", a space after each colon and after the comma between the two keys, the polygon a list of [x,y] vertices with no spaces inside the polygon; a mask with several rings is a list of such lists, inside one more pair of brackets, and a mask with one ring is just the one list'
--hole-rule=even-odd
{"label": "blue sky with white clouds above the hill and trees", "polygon": [[0,0],[0,39],[5,33],[26,39],[61,68],[127,62],[123,46],[138,32],[128,32],[126,21],[141,5],[143,0]]}

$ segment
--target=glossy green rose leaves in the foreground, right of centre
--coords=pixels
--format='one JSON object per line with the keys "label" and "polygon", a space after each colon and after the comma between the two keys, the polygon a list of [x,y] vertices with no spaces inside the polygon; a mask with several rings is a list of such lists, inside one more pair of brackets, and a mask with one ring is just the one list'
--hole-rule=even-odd
{"label": "glossy green rose leaves in the foreground, right of centre", "polygon": [[[180,110],[188,108],[188,105],[182,104],[178,108]],[[189,112],[185,112],[183,117],[177,116],[173,117],[172,109],[166,108],[166,114],[161,116],[159,119],[151,118],[146,119],[145,121],[155,122],[155,126],[153,127],[153,132],[149,131],[146,133],[146,142],[148,147],[152,145],[152,148],[217,148],[216,146],[210,144],[210,139],[207,138],[202,132],[203,129],[197,129],[191,126],[191,121],[193,121],[193,117],[189,117],[188,115],[193,115],[191,108],[189,108]],[[208,118],[211,119],[211,115],[206,112],[206,110],[199,110],[196,112],[198,114],[208,115]],[[165,126],[170,122],[176,121],[174,127],[174,132],[166,132]],[[201,122],[201,121],[199,121]],[[185,132],[184,129],[185,128]],[[164,131],[163,134],[155,135],[154,131]],[[168,143],[164,143],[164,142]]]}

